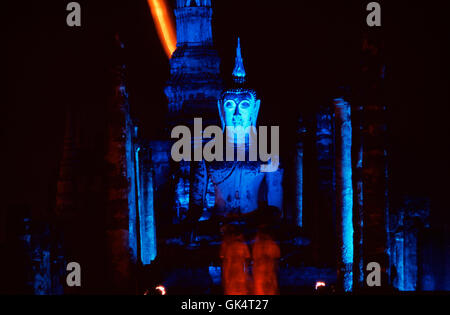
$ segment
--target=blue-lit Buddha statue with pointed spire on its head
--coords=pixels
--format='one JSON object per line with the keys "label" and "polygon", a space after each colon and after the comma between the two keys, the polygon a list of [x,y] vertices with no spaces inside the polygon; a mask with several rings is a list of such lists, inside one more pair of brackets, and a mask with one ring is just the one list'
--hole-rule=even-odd
{"label": "blue-lit Buddha statue with pointed spire on its head", "polygon": [[261,101],[254,90],[245,88],[246,73],[239,40],[233,81],[235,86],[222,93],[218,109],[222,129],[227,130],[226,145],[234,147],[234,152],[245,152],[247,158],[233,161],[224,158],[224,161],[201,161],[192,165],[190,217],[194,220],[203,213],[208,181],[215,191],[211,214],[219,221],[248,217],[262,205],[276,208],[278,215],[281,214],[282,169],[263,172],[262,161],[248,158],[251,143],[256,141],[252,131],[256,130]]}

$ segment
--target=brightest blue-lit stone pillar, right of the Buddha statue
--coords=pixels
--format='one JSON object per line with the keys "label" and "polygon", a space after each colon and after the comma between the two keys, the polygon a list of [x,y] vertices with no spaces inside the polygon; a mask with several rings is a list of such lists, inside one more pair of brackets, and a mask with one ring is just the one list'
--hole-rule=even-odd
{"label": "brightest blue-lit stone pillar, right of the Buddha statue", "polygon": [[338,239],[338,284],[349,292],[353,287],[353,185],[352,125],[350,104],[334,100],[336,130],[336,210]]}

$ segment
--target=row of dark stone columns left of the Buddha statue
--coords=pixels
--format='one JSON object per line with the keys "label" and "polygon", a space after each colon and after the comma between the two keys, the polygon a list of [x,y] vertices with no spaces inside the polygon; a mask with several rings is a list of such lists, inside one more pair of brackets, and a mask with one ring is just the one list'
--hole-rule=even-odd
{"label": "row of dark stone columns left of the Buddha statue", "polygon": [[[116,37],[115,57],[120,58],[122,47]],[[81,265],[82,277],[86,281],[82,284],[82,292],[89,292],[94,286],[100,290],[97,292],[102,293],[135,292],[133,279],[141,252],[139,231],[149,231],[152,226],[146,225],[148,220],[138,225],[139,181],[136,175],[139,172],[136,171],[139,151],[134,142],[134,126],[124,80],[125,67],[120,59],[117,61],[112,68],[111,94],[103,113],[106,124],[100,125],[100,128],[105,128],[105,136],[100,139],[102,146],[94,148],[100,157],[92,156],[92,152],[86,149],[87,142],[94,135],[86,134],[80,139],[79,129],[87,125],[86,117],[75,115],[74,110],[67,114],[55,212],[64,232],[66,260]],[[92,132],[87,127],[85,129],[86,133]],[[102,150],[103,146],[105,150]],[[98,180],[95,180],[95,185],[90,185],[94,169]],[[142,180],[152,183],[151,178],[143,177]],[[149,187],[150,191],[143,191],[142,200],[153,206],[152,186]],[[153,213],[150,215],[149,220],[153,219]],[[80,241],[87,239],[92,240],[90,244]],[[153,238],[146,243],[146,253],[153,249],[154,241]],[[91,254],[93,251],[95,257]],[[96,272],[93,271],[95,268],[98,268]],[[104,276],[93,275],[100,269],[104,269]],[[91,276],[85,277],[87,274]],[[94,284],[93,278],[103,283]],[[80,291],[65,287],[65,292]]]}

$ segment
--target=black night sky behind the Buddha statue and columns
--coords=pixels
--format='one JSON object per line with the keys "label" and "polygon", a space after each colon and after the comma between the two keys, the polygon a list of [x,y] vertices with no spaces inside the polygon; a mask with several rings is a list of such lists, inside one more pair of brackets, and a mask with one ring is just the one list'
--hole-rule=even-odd
{"label": "black night sky behind the Buddha statue and columns", "polygon": [[[85,119],[95,124],[96,110],[107,100],[114,32],[121,33],[127,49],[133,113],[149,134],[164,116],[168,60],[146,1],[79,1],[81,28],[66,26],[68,2],[2,5],[6,206],[50,209],[65,107],[92,108]],[[261,94],[261,121],[286,124],[293,112],[326,103],[330,88],[355,80],[368,2],[216,0],[213,32],[223,73],[232,71],[239,34],[250,83]],[[448,194],[450,175],[450,11],[444,1],[379,2],[395,194],[431,195],[447,210],[441,194]]]}

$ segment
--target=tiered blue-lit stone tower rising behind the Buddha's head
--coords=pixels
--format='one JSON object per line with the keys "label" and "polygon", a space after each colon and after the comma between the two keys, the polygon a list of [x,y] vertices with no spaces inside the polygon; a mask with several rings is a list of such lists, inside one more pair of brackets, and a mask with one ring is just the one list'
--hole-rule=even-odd
{"label": "tiered blue-lit stone tower rising behind the Buddha's head", "polygon": [[213,48],[211,1],[177,1],[175,16],[177,49],[165,89],[170,124],[190,125],[194,117],[212,124],[217,122],[216,104],[223,87],[220,58]]}

